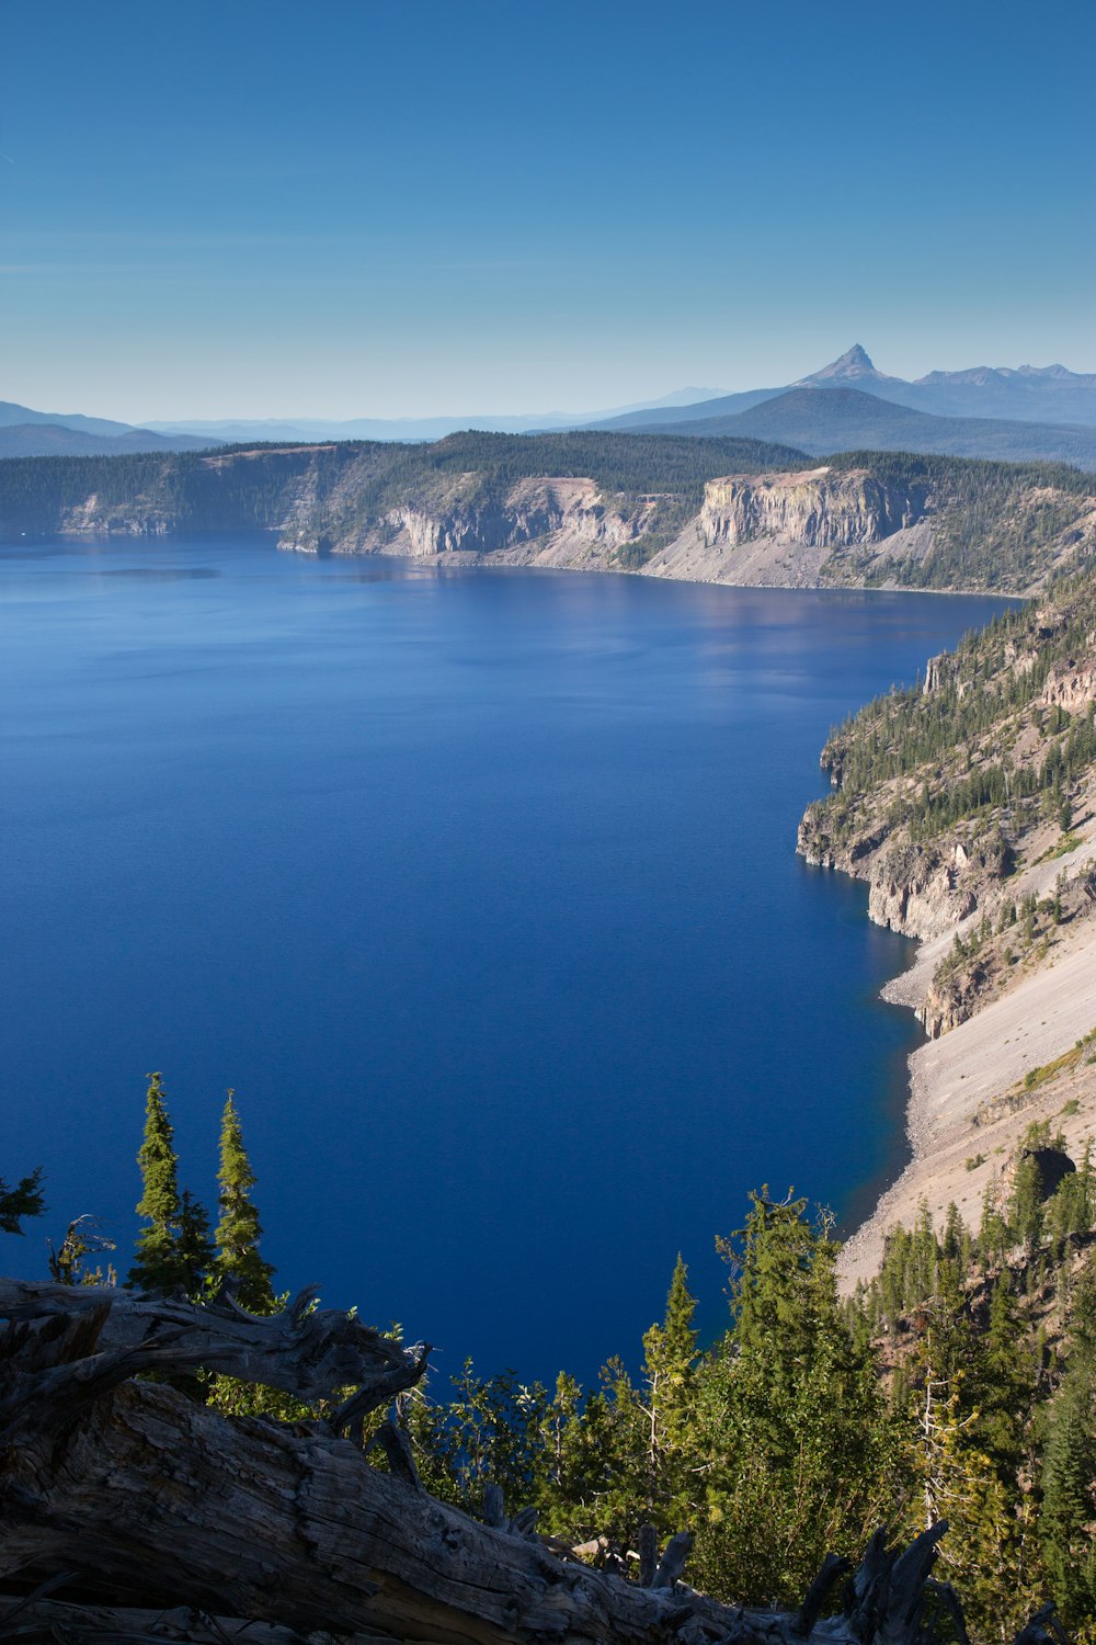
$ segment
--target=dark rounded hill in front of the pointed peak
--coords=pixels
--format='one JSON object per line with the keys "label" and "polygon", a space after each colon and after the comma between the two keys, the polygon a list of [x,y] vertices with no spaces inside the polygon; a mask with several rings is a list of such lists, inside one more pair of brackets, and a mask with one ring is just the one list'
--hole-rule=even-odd
{"label": "dark rounded hill in front of the pointed peak", "polygon": [[1096,472],[1096,428],[930,416],[861,388],[790,388],[731,416],[649,423],[646,429],[779,441],[812,456],[833,451],[915,451],[1007,462],[1068,462]]}

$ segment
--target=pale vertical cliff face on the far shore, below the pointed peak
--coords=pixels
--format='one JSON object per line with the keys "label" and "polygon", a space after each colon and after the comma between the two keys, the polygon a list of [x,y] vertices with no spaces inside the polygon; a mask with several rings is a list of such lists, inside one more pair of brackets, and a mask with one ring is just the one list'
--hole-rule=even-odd
{"label": "pale vertical cliff face on the far shore, below the pointed peak", "polygon": [[708,480],[698,526],[710,544],[769,536],[840,549],[879,543],[925,515],[923,485],[884,485],[866,469],[822,467]]}

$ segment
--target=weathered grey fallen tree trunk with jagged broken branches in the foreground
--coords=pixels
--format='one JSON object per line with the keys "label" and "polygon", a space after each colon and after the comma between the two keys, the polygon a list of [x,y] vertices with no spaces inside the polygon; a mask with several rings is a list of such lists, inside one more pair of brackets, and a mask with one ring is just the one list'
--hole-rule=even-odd
{"label": "weathered grey fallen tree trunk with jagged broken branches in the foreground", "polygon": [[[225,1304],[2,1283],[3,1318],[0,1596],[66,1576],[61,1592],[39,1589],[18,1612],[18,1599],[3,1599],[0,1637],[23,1645],[46,1635],[227,1645],[245,1624],[255,1645],[317,1630],[434,1645],[928,1638],[942,1527],[902,1553],[876,1536],[841,1615],[820,1622],[843,1564],[827,1563],[799,1612],[725,1607],[680,1586],[687,1535],[659,1559],[644,1533],[642,1582],[633,1582],[550,1551],[531,1512],[508,1520],[496,1490],[485,1502],[491,1523],[435,1502],[394,1426],[376,1438],[393,1469],[380,1472],[338,1421],[350,1410],[355,1423],[373,1395],[416,1380],[426,1351],[403,1355],[340,1316],[297,1304],[256,1321]],[[256,1380],[315,1397],[345,1383],[352,1360],[363,1393],[332,1423],[227,1420],[171,1387],[133,1380],[136,1370],[215,1364],[242,1375],[246,1365]],[[150,1620],[156,1607],[173,1610],[171,1625]]]}

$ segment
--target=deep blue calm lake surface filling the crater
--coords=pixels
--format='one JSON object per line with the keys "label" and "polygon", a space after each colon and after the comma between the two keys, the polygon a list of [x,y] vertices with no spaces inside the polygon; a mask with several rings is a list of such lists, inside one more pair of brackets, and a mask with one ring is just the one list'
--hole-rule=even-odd
{"label": "deep blue calm lake surface filling the crater", "polygon": [[900,1161],[912,944],[795,855],[831,722],[1001,600],[0,549],[0,1175],[128,1267],[145,1074],[283,1286],[439,1369],[633,1359],[680,1250]]}

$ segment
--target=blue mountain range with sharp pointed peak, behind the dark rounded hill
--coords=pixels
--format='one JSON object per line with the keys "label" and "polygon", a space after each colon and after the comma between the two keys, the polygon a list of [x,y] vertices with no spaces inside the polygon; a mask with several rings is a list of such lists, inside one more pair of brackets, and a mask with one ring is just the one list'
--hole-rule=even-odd
{"label": "blue mountain range with sharp pointed peak, behind the dark rounded hill", "polygon": [[822,388],[830,393],[854,388],[928,416],[1096,426],[1096,373],[1068,372],[1065,365],[976,365],[963,372],[928,372],[910,383],[876,370],[871,355],[859,344],[853,344],[822,370],[782,388],[749,388],[736,395],[697,400],[693,405],[670,406],[657,419],[642,411],[596,421],[592,418],[587,426],[649,429],[710,421],[749,411],[789,388]]}

